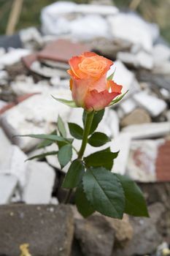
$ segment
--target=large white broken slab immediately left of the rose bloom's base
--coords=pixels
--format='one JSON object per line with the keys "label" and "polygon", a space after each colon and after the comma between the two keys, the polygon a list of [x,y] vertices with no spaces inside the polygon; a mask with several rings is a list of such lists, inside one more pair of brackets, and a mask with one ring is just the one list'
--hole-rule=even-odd
{"label": "large white broken slab immediately left of the rose bloom's base", "polygon": [[[37,94],[6,111],[1,116],[1,124],[4,130],[12,138],[13,135],[46,134],[54,129],[53,123],[56,122],[58,114],[63,120],[69,114],[69,107],[62,105],[53,99],[54,97],[68,99],[69,90],[56,89],[44,94]],[[15,143],[23,149],[29,151],[39,143],[33,138],[15,138]]]}

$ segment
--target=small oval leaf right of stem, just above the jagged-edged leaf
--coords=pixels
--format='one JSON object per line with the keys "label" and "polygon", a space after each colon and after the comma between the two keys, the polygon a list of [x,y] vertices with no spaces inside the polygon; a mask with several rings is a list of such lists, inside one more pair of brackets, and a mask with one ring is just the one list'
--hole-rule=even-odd
{"label": "small oval leaf right of stem, just above the jagged-edged leaf", "polygon": [[93,147],[103,146],[108,143],[110,138],[103,132],[94,132],[93,135],[88,139],[88,143]]}

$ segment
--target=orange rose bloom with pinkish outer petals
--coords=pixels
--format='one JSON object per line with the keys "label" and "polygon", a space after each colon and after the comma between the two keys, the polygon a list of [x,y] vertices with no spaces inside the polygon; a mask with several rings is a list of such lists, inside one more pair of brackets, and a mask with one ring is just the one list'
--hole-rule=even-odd
{"label": "orange rose bloom with pinkish outer petals", "polygon": [[101,110],[121,94],[122,86],[107,81],[107,71],[113,62],[96,53],[82,53],[69,60],[70,89],[78,107]]}

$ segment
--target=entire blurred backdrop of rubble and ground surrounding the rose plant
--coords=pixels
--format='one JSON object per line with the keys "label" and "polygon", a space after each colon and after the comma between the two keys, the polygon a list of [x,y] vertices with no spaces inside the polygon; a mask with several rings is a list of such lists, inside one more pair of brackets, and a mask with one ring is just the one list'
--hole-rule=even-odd
{"label": "entire blurred backdrop of rubble and ground surrounding the rose plant", "polygon": [[[169,17],[170,0],[0,0],[0,256],[170,255]],[[61,204],[60,145],[15,136],[56,134],[58,115],[83,127],[82,108],[51,95],[72,99],[66,70],[85,51],[114,61],[107,76],[128,91],[97,130],[120,150],[112,172],[136,181],[150,218],[82,219],[74,193]],[[85,156],[102,149],[88,144]]]}

